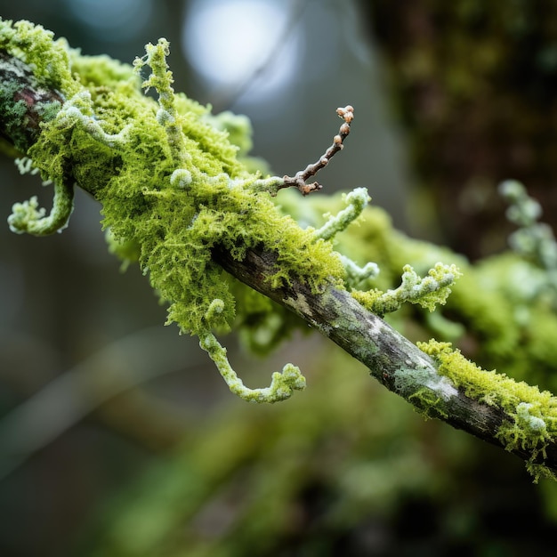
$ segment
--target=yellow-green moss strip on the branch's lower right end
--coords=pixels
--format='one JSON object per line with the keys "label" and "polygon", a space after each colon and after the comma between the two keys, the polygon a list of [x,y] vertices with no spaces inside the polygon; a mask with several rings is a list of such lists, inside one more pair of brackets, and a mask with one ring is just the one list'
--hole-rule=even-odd
{"label": "yellow-green moss strip on the branch's lower right end", "polygon": [[505,374],[482,369],[464,358],[460,351],[453,350],[450,343],[431,340],[417,345],[439,364],[439,373],[466,396],[505,411],[509,419],[496,432],[496,439],[507,450],[528,450],[527,467],[536,479],[540,474],[553,476],[543,466],[543,459],[545,448],[557,436],[557,397]]}

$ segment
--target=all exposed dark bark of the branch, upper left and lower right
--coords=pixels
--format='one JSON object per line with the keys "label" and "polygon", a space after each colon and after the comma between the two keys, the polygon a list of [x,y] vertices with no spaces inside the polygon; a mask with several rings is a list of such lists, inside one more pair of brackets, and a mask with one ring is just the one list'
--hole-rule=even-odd
{"label": "all exposed dark bark of the branch, upper left and lower right", "polygon": [[[2,52],[0,61],[1,72],[12,72],[12,76],[20,78],[17,91],[6,92],[0,87],[3,98],[0,133],[17,149],[25,151],[40,133],[41,113],[37,104],[46,98],[52,101],[52,98],[61,100],[61,97],[59,93],[45,92],[38,87],[30,70],[20,61],[10,60]],[[2,75],[5,74],[0,74],[0,78]],[[19,111],[13,109],[15,105],[20,107]],[[26,112],[22,113],[21,108],[26,108]],[[70,166],[71,161],[68,164]],[[496,432],[505,421],[512,423],[513,417],[500,408],[472,400],[456,389],[447,377],[440,375],[432,359],[383,319],[366,311],[348,292],[329,285],[315,294],[296,280],[273,289],[268,278],[274,274],[276,254],[262,250],[248,251],[241,262],[222,250],[215,250],[214,259],[249,287],[294,311],[311,327],[359,359],[389,390],[410,401],[427,416],[440,418],[482,440],[502,446]],[[527,449],[515,448],[512,452],[525,460],[532,457]],[[543,464],[557,472],[557,446],[551,443],[545,452]]]}

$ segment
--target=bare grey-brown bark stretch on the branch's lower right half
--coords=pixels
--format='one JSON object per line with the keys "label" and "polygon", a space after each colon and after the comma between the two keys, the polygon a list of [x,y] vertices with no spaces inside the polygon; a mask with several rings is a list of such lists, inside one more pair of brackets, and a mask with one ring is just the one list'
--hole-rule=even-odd
{"label": "bare grey-brown bark stretch on the branch's lower right half", "polygon": [[[270,289],[266,278],[275,272],[276,257],[266,252],[250,251],[242,262],[233,260],[225,252],[216,253],[215,258],[246,285],[294,311],[368,367],[371,375],[387,389],[409,400],[428,416],[501,446],[494,437],[495,432],[512,418],[500,408],[473,400],[462,391],[448,397],[438,407],[439,411],[421,405],[420,398],[415,396],[420,390],[429,389],[432,397],[440,396],[440,375],[435,363],[383,319],[366,311],[345,290],[329,286],[322,294],[312,294],[307,285],[296,281],[289,286]],[[413,375],[416,381],[404,380]],[[529,451],[520,448],[513,452],[525,460],[531,456]],[[557,472],[557,447],[552,445],[546,452],[544,464]]]}

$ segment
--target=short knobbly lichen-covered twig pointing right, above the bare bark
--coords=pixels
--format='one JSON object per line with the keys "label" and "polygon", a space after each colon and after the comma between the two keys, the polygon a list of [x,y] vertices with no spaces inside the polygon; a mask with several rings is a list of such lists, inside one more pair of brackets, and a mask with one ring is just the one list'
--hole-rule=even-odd
{"label": "short knobbly lichen-covered twig pointing right, above the bare bark", "polygon": [[427,276],[422,278],[410,265],[403,268],[400,287],[382,292],[378,289],[362,292],[352,291],[351,295],[369,311],[383,316],[386,313],[397,311],[403,303],[416,303],[419,306],[433,311],[438,304],[447,302],[448,295],[461,272],[456,265],[436,263]]}

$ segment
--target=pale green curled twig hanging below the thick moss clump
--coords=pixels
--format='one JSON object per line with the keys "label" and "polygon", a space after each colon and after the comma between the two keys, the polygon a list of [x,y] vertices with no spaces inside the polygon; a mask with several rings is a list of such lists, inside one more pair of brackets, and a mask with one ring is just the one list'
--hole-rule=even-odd
{"label": "pale green curled twig hanging below the thick moss clump", "polygon": [[295,391],[302,391],[305,388],[305,378],[300,373],[300,369],[292,364],[287,364],[282,368],[282,373],[276,371],[272,374],[269,387],[249,389],[230,366],[226,357],[226,349],[222,347],[212,333],[207,333],[200,338],[199,346],[213,359],[230,391],[248,402],[287,400]]}

